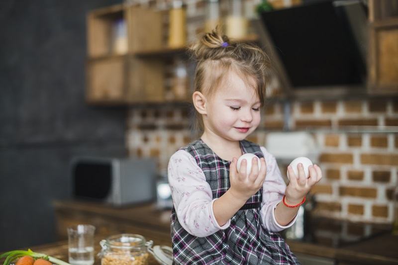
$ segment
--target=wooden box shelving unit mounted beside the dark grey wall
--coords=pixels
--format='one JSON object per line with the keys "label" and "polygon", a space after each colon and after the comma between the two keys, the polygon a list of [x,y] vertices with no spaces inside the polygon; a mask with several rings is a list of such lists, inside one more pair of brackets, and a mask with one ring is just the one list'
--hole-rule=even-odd
{"label": "wooden box shelving unit mounted beside the dark grey wall", "polygon": [[[90,104],[127,105],[189,101],[166,91],[167,61],[183,56],[188,44],[170,48],[165,40],[167,11],[151,8],[113,5],[87,15],[87,92]],[[127,49],[115,53],[112,27],[123,20],[126,25]],[[255,42],[256,35],[239,42]],[[190,82],[188,82],[190,83]],[[166,95],[167,94],[167,95]]]}

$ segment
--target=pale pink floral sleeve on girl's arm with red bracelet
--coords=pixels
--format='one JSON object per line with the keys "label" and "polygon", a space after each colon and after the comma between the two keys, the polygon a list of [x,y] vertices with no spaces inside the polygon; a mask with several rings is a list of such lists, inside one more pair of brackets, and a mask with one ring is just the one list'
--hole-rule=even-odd
{"label": "pale pink floral sleeve on girl's arm with red bracelet", "polygon": [[282,226],[276,221],[275,207],[285,195],[286,184],[275,157],[268,153],[264,147],[260,147],[260,149],[264,154],[267,165],[267,175],[263,184],[263,201],[261,202],[261,220],[268,231],[279,232],[291,227],[295,223],[297,215],[287,226]]}

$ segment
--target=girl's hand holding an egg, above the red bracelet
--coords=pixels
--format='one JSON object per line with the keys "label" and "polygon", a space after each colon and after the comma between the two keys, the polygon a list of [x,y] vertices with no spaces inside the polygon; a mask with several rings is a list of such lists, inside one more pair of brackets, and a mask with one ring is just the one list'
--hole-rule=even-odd
{"label": "girl's hand holding an egg, above the red bracelet", "polygon": [[288,167],[290,177],[289,185],[286,187],[286,203],[296,205],[302,201],[313,185],[322,178],[322,171],[317,165],[309,166],[309,177],[305,177],[304,168],[298,164],[298,176],[295,175],[293,168]]}

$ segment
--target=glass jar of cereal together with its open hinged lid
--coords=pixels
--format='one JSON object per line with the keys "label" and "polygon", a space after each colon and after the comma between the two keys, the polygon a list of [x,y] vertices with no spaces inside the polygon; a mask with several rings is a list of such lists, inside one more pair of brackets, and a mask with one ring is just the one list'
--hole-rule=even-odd
{"label": "glass jar of cereal together with its open hinged lid", "polygon": [[[155,258],[162,265],[171,265],[173,254],[170,247],[155,246],[141,235],[118,234],[100,241],[98,254],[101,265],[148,265]],[[151,262],[152,261],[152,262]]]}

